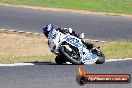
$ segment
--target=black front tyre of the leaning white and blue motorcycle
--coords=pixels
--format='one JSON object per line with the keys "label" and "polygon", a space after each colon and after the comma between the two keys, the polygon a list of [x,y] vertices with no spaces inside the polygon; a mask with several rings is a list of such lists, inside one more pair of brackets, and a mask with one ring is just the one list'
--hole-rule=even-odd
{"label": "black front tyre of the leaning white and blue motorcycle", "polygon": [[[66,49],[65,46],[61,46],[59,50],[60,50],[61,54],[62,54],[69,62],[71,62],[72,64],[75,64],[75,65],[80,65],[80,64],[82,64],[82,62],[80,61],[80,57],[74,58],[74,57],[77,57],[77,52],[74,53],[75,56],[72,56],[72,55],[71,55],[72,53],[71,53],[70,51],[68,51],[68,50]],[[74,50],[74,49],[72,48],[72,50]],[[76,51],[76,50],[74,50],[74,51]]]}

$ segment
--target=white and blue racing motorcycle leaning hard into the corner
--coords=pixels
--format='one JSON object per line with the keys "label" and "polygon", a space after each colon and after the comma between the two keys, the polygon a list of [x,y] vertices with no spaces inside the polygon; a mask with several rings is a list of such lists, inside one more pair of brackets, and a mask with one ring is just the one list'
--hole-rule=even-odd
{"label": "white and blue racing motorcycle leaning hard into the corner", "polygon": [[48,25],[48,45],[56,55],[55,62],[62,64],[70,62],[72,64],[103,64],[105,55],[99,47],[94,45],[94,49],[87,49],[87,46],[82,42],[82,39],[77,38],[69,33],[64,34],[59,30]]}

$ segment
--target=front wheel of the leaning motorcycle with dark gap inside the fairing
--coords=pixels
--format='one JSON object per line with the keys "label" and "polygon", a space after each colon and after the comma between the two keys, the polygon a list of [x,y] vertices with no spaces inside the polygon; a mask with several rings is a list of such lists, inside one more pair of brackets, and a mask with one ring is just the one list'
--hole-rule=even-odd
{"label": "front wheel of the leaning motorcycle with dark gap inside the fairing", "polygon": [[78,49],[72,46],[70,48],[72,48],[72,51],[69,51],[65,46],[61,46],[60,47],[61,54],[72,64],[82,64],[82,62],[80,61]]}

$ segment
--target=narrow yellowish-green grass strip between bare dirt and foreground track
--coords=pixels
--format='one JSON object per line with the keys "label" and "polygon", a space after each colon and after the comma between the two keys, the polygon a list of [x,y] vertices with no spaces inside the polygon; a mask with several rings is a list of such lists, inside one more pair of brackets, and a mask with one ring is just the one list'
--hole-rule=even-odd
{"label": "narrow yellowish-green grass strip between bare dirt and foreground track", "polygon": [[27,63],[27,62],[49,62],[54,61],[55,55],[32,55],[32,56],[4,56],[0,57],[0,63],[12,64],[12,63]]}

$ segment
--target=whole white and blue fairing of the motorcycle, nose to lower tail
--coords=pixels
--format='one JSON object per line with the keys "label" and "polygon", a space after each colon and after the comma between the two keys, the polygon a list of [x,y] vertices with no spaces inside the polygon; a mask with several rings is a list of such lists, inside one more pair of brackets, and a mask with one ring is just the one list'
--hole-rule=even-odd
{"label": "whole white and blue fairing of the motorcycle, nose to lower tail", "polygon": [[89,52],[89,50],[83,46],[81,39],[72,35],[64,35],[61,32],[56,31],[55,28],[48,28],[50,29],[50,32],[48,34],[49,46],[52,52],[58,53],[58,47],[61,45],[62,42],[66,41],[70,45],[78,48],[80,53],[80,60],[84,64],[93,64],[97,61],[97,56]]}

